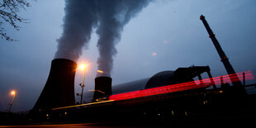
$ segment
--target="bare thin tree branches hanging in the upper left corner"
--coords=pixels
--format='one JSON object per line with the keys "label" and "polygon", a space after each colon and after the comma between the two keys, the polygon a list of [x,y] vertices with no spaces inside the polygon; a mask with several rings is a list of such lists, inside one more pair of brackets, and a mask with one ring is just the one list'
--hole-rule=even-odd
{"label": "bare thin tree branches hanging in the upper left corner", "polygon": [[31,5],[26,0],[0,0],[0,36],[2,39],[13,40],[7,35],[2,24],[6,22],[19,31],[21,27],[18,26],[17,23],[26,22],[26,19],[20,17],[17,13],[20,12],[21,9],[26,10],[26,7],[30,6]]}

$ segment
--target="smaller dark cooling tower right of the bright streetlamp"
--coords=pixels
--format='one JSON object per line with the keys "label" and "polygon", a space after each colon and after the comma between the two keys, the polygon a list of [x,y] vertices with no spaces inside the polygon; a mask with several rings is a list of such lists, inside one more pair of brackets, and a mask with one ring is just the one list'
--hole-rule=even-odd
{"label": "smaller dark cooling tower right of the bright streetlamp", "polygon": [[111,91],[112,78],[110,77],[97,77],[95,78],[95,91],[93,101],[98,101],[102,97],[107,97],[112,94]]}

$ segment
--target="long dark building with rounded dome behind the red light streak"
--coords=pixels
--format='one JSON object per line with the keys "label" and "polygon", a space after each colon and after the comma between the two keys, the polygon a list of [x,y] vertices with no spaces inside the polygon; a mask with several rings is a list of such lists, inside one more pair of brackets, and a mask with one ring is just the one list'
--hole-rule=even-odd
{"label": "long dark building with rounded dome behind the red light streak", "polygon": [[[178,68],[175,71],[166,70],[154,74],[151,78],[143,78],[140,80],[121,83],[112,86],[112,94],[122,92],[132,92],[137,90],[144,90],[148,88],[158,88],[167,85],[186,83],[194,81],[193,78],[201,79],[201,73],[208,73],[211,78],[209,66],[191,66],[188,68]],[[212,84],[213,81],[212,81]]]}

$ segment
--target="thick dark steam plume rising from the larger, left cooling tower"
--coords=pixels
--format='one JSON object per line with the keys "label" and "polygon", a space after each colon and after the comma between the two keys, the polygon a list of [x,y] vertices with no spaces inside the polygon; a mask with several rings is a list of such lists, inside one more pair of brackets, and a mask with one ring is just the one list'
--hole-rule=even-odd
{"label": "thick dark steam plume rising from the larger, left cooling tower", "polygon": [[55,58],[78,60],[91,38],[92,27],[97,25],[92,5],[93,1],[66,0],[63,34],[57,40]]}

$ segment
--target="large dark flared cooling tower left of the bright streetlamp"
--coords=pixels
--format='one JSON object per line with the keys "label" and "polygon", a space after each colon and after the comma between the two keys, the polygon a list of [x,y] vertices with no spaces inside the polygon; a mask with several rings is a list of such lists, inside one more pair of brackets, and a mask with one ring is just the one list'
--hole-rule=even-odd
{"label": "large dark flared cooling tower left of the bright streetlamp", "polygon": [[45,88],[34,110],[74,105],[74,75],[77,64],[69,59],[54,59]]}

